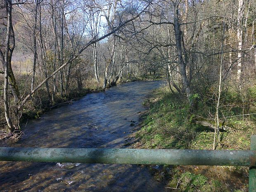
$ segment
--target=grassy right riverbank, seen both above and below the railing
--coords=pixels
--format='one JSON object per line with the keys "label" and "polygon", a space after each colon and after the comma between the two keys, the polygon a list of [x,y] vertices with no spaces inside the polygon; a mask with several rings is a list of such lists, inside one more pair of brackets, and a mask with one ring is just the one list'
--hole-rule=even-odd
{"label": "grassy right riverbank, seen both above and below the railing", "polygon": [[[232,95],[229,92],[226,95]],[[255,89],[250,90],[251,106],[248,113],[254,110]],[[232,104],[238,99],[232,97]],[[223,100],[223,103],[230,102]],[[237,103],[235,103],[237,102]],[[148,110],[142,115],[141,129],[135,133],[136,142],[133,147],[147,149],[212,149],[214,129],[196,124],[196,119],[207,118],[212,105],[204,100],[198,102],[198,110],[190,113],[189,104],[185,98],[172,93],[167,87],[160,88],[145,100]],[[240,115],[235,107],[223,107],[222,114]],[[207,116],[208,115],[208,116]],[[223,116],[221,116],[224,118]],[[217,149],[249,149],[250,136],[256,133],[256,116],[247,116],[242,121],[241,116],[226,118],[221,142]],[[240,192],[247,191],[248,169],[244,167],[227,166],[164,166],[156,172],[157,179],[167,178],[167,187],[185,192]],[[167,177],[166,177],[167,175]]]}

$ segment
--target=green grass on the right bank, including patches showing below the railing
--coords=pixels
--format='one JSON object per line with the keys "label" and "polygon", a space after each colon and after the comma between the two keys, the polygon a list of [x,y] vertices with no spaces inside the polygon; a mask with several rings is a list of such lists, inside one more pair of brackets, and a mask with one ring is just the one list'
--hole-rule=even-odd
{"label": "green grass on the right bank, including patches showing below the railing", "polygon": [[[256,88],[251,88],[249,92],[250,109],[247,112],[253,113],[251,109],[256,106]],[[214,130],[194,124],[194,118],[200,116],[209,119],[209,113],[214,117],[215,108],[212,103],[207,103],[204,97],[196,96],[198,110],[193,111],[192,114],[185,97],[170,92],[167,87],[154,91],[143,102],[149,109],[142,116],[141,129],[135,134],[137,138],[140,138],[140,146],[147,149],[212,149]],[[222,98],[220,119],[223,120],[225,116],[241,114],[239,106],[241,106],[239,96],[235,92],[225,92]],[[225,145],[218,145],[217,149],[249,149],[250,137],[256,133],[255,117],[249,116],[244,122],[240,116],[225,119],[225,125],[231,129],[220,133],[221,142]],[[214,123],[214,120],[211,121]],[[243,167],[223,166],[222,168],[228,168],[238,173],[248,171]],[[173,168],[172,171],[174,174],[168,181],[167,187],[175,188],[182,178],[178,192],[230,191],[225,185],[227,181],[216,180],[215,177],[209,177],[209,175],[207,178],[193,169],[182,172]],[[244,190],[244,188],[241,189]]]}

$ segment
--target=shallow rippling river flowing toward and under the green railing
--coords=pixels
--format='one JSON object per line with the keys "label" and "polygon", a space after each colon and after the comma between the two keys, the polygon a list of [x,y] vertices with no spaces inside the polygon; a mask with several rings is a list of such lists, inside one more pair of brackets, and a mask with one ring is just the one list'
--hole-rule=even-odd
{"label": "shallow rippling river flowing toward and under the green railing", "polygon": [[[90,93],[28,121],[7,147],[124,148],[145,96],[161,81],[132,82]],[[0,192],[164,192],[145,166],[0,162]]]}

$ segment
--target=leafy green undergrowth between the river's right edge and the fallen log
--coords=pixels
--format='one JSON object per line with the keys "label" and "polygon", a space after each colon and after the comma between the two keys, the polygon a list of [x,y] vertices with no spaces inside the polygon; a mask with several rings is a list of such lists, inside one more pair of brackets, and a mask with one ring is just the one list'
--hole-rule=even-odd
{"label": "leafy green undergrowth between the river's right edge and the fallen log", "polygon": [[[159,99],[155,101],[156,98]],[[136,136],[148,148],[190,148],[197,126],[187,119],[190,106],[186,99],[164,88],[154,92],[151,99],[147,101],[149,113],[142,117],[142,129]]]}

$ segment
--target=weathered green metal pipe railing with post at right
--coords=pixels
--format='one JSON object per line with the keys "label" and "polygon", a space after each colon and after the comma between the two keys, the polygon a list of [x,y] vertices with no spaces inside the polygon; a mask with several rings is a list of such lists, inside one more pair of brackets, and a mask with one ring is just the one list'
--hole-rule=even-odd
{"label": "weathered green metal pipe railing with post at right", "polygon": [[0,147],[0,161],[249,166],[249,192],[256,192],[256,135],[251,150]]}

